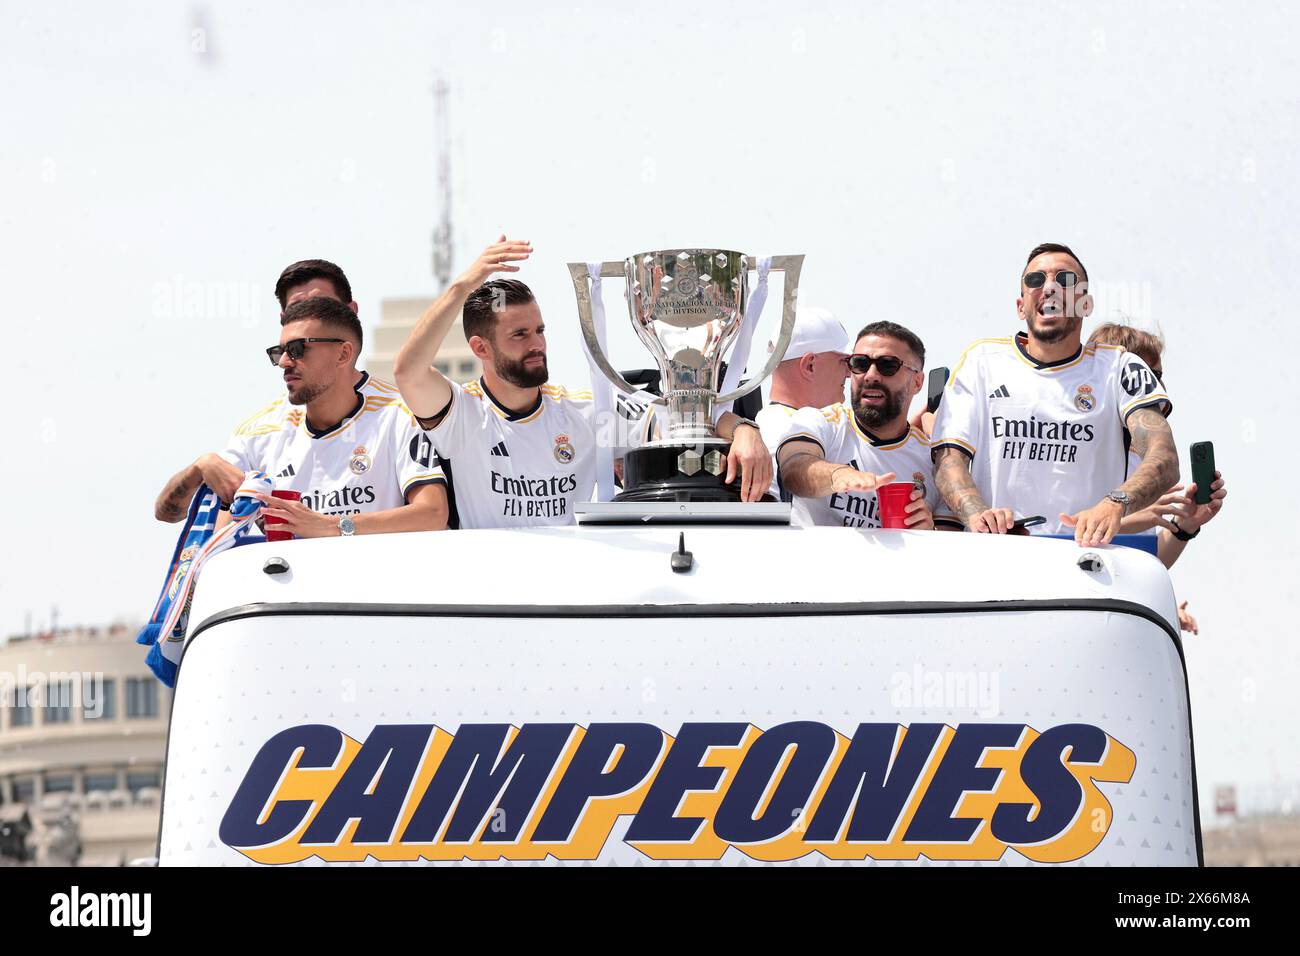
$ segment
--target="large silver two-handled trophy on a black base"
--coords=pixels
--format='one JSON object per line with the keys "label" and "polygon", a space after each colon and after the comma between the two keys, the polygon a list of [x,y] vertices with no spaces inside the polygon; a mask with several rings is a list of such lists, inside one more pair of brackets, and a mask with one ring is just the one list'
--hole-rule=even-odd
{"label": "large silver two-handled trophy on a black base", "polygon": [[[794,328],[794,302],[803,256],[772,256],[770,263],[771,271],[784,273],[783,315],[776,345],[757,376],[722,394],[724,356],[746,328],[746,310],[755,304],[750,298],[749,276],[759,268],[759,260],[731,250],[672,248],[599,264],[602,278],[623,277],[627,282],[632,326],[659,367],[663,393],[658,397],[642,395],[654,405],[659,437],[624,457],[624,490],[615,496],[615,501],[740,501],[738,486],[723,481],[731,445],[718,437],[714,408],[757,389],[785,355]],[[767,263],[762,261],[762,267],[766,269]],[[636,394],[637,386],[615,371],[601,347],[594,317],[597,310],[592,299],[593,268],[585,263],[569,263],[568,269],[592,362],[616,389]],[[766,286],[766,282],[762,285]],[[757,304],[762,307],[760,302]],[[749,333],[753,324],[750,321]],[[732,356],[741,365],[745,358]],[[738,376],[734,378],[738,380]]]}

